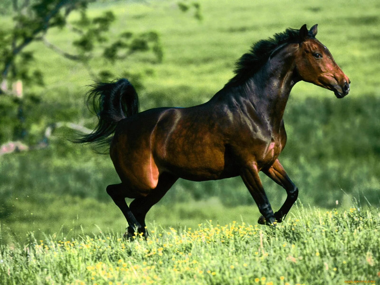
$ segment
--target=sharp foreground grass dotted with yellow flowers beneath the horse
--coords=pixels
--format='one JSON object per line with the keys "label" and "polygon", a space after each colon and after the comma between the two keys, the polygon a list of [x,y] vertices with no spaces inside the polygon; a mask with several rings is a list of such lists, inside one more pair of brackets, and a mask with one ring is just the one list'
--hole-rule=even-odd
{"label": "sharp foreground grass dotted with yellow flowers beneath the horse", "polygon": [[340,284],[380,281],[380,212],[297,207],[277,228],[209,220],[0,245],[2,284]]}

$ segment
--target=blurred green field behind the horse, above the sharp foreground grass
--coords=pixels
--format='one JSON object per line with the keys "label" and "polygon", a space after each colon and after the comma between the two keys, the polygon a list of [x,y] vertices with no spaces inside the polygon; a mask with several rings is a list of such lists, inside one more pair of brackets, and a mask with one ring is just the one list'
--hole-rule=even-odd
{"label": "blurred green field behind the horse, above the sharp foreground grass", "polygon": [[[10,2],[0,5],[0,24],[13,24]],[[191,2],[184,2],[191,6]],[[326,89],[306,82],[292,90],[284,120],[288,142],[279,159],[298,186],[303,204],[323,208],[359,203],[378,207],[380,188],[380,2],[378,1],[211,1],[181,11],[176,1],[95,1],[89,17],[112,11],[115,21],[107,36],[124,30],[159,36],[161,62],[149,52],[126,59],[89,61],[93,70],[108,68],[112,76],[130,75],[138,86],[141,110],[158,106],[193,106],[209,100],[233,77],[234,62],[251,44],[287,27],[318,24],[317,38],[351,80],[350,94],[338,100]],[[193,10],[194,11],[193,11]],[[186,10],[186,9],[185,9]],[[78,21],[70,14],[68,22]],[[69,28],[51,28],[46,38],[73,52],[76,35]],[[0,94],[0,145],[21,141],[35,145],[46,128],[73,122],[92,129],[96,124],[85,105],[92,77],[84,65],[62,57],[40,41],[26,51],[34,54],[44,86],[24,86],[23,117],[19,101]],[[93,51],[95,54],[97,50]],[[99,53],[99,52],[98,52]],[[2,60],[0,58],[0,60]],[[47,147],[0,156],[1,241],[24,242],[35,235],[123,231],[125,219],[105,192],[119,178],[108,155],[91,146],[72,144],[70,128],[56,128]],[[276,211],[285,200],[281,187],[262,175]],[[347,193],[347,194],[346,194]],[[338,205],[336,204],[338,200]],[[210,182],[179,180],[147,216],[148,225],[193,226],[204,220],[221,223],[244,219],[256,223],[257,207],[239,177]]]}

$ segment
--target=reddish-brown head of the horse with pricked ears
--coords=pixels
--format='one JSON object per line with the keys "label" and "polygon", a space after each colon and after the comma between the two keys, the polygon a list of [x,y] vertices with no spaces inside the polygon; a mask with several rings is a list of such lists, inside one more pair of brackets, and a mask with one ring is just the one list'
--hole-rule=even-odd
{"label": "reddish-brown head of the horse with pricked ears", "polygon": [[299,30],[301,43],[296,53],[296,71],[303,81],[334,91],[343,98],[350,91],[350,79],[332,58],[331,53],[315,38],[317,25],[309,30],[306,24]]}

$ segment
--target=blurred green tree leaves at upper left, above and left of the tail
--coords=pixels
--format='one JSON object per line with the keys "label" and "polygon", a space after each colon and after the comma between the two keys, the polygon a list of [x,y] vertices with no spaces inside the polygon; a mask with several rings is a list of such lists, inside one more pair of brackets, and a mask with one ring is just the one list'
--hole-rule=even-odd
{"label": "blurred green tree leaves at upper left, above and left of the tail", "polygon": [[[24,1],[21,7],[21,1],[19,3],[15,0],[12,25],[0,27],[0,56],[2,58],[0,81],[6,84],[6,80],[13,82],[21,79],[25,87],[44,86],[43,72],[38,68],[39,65],[36,65],[35,51],[25,51],[26,46],[37,41],[43,41],[47,47],[59,52],[63,57],[82,63],[93,79],[98,81],[109,81],[115,77],[114,73],[108,69],[98,71],[98,75],[92,71],[91,60],[99,59],[96,55],[99,54],[99,49],[103,49],[103,52],[100,52],[103,55],[101,58],[109,63],[126,59],[136,52],[149,51],[155,55],[156,62],[162,62],[163,49],[157,32],[150,31],[135,35],[124,31],[119,36],[110,37],[111,24],[116,19],[114,13],[106,11],[100,16],[89,17],[88,3],[84,0],[36,0]],[[79,19],[68,21],[69,14],[74,10],[79,11]],[[49,29],[56,28],[55,31],[63,33],[63,28],[66,26],[70,27],[72,35],[76,35],[71,39],[72,49],[76,49],[77,52],[75,55],[46,41]],[[123,74],[131,74],[131,72],[125,70]],[[139,78],[139,75],[132,75],[132,77]],[[138,87],[140,86],[142,83],[138,80]],[[8,90],[0,90],[0,96],[5,91]],[[0,104],[5,101],[7,99],[1,100]],[[8,123],[7,128],[0,133],[1,141],[23,138],[25,141],[35,142],[36,131],[40,130],[40,136],[42,136],[43,129],[47,127],[41,125],[41,122],[47,123],[49,119],[34,118],[34,121],[31,121],[31,117],[28,117],[28,123],[25,123],[25,117],[21,116],[21,112],[25,112],[26,108],[28,108],[26,112],[30,112],[31,109],[33,112],[33,109],[38,109],[38,106],[32,106],[31,101],[17,101],[18,106],[15,106],[19,110],[17,114],[11,111],[0,112],[0,120]],[[0,106],[0,108],[6,109],[8,106]],[[24,138],[27,133],[27,138]]]}

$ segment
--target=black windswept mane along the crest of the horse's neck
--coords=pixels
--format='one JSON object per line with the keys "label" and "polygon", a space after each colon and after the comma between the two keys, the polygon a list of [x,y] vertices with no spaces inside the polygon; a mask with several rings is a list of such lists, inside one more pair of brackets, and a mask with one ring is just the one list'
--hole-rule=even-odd
{"label": "black windswept mane along the crest of the horse's neck", "polygon": [[[310,33],[309,33],[309,36]],[[250,78],[267,62],[271,53],[282,44],[300,43],[299,30],[287,28],[285,32],[276,33],[272,38],[254,43],[249,52],[243,54],[236,62],[233,78],[227,85],[238,85]]]}

